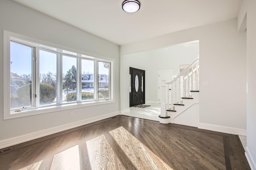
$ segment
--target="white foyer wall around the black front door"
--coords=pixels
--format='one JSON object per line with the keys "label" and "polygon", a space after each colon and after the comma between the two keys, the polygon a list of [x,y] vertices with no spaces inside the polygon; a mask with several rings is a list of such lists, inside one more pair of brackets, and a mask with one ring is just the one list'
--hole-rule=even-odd
{"label": "white foyer wall around the black front door", "polygon": [[[161,49],[143,51],[122,56],[123,65],[120,67],[122,88],[129,95],[129,67],[145,70],[145,100],[158,101],[158,70],[173,70],[173,77],[180,74],[180,65],[190,64],[199,55],[199,42],[182,43]],[[173,78],[172,77],[172,78]],[[128,103],[122,102],[127,107]],[[124,107],[124,106],[123,106]]]}

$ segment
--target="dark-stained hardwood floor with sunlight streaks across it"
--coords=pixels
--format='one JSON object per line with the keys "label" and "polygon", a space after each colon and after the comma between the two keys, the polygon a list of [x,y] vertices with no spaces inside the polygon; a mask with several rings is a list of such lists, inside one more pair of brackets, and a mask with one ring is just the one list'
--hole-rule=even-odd
{"label": "dark-stained hardwood floor with sunlight streaks across it", "polygon": [[250,170],[237,135],[119,115],[0,150],[0,170]]}

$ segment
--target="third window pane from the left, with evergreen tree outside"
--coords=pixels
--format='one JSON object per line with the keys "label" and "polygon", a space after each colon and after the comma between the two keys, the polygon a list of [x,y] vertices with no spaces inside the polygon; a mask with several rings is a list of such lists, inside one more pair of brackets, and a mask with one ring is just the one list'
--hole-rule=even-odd
{"label": "third window pane from the left, with evergreen tree outside", "polygon": [[62,57],[62,102],[76,101],[76,58]]}

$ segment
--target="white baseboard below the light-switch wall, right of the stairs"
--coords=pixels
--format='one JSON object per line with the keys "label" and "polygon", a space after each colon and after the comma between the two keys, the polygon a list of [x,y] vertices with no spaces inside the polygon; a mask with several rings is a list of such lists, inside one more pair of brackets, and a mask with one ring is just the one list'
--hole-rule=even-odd
{"label": "white baseboard below the light-switch wall, right of the stairs", "polygon": [[233,135],[243,135],[246,136],[245,129],[237,129],[233,127],[225,127],[225,126],[218,126],[218,125],[210,125],[205,123],[198,123],[198,129],[204,129],[209,131],[216,131],[222,133],[229,133]]}

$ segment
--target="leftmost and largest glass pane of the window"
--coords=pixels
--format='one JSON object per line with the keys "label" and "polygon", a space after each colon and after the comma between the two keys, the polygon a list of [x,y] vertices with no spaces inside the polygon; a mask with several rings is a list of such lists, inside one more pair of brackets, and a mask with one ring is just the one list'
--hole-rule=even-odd
{"label": "leftmost and largest glass pane of the window", "polygon": [[33,106],[33,48],[10,42],[10,109]]}

